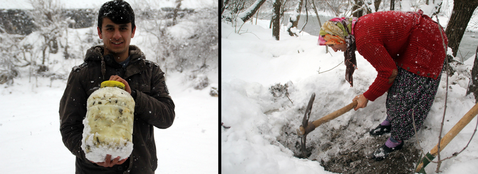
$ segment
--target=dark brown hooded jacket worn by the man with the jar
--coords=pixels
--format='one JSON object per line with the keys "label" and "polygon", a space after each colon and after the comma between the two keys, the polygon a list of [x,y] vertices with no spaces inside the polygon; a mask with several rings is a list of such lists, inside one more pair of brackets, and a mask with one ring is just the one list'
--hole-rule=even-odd
{"label": "dark brown hooded jacket worn by the man with the jar", "polygon": [[[109,55],[103,56],[103,51],[103,46],[90,48],[85,62],[74,67],[70,73],[60,100],[63,143],[76,156],[76,174],[153,174],[158,161],[153,126],[166,129],[173,124],[175,117],[174,103],[169,96],[164,73],[157,64],[147,61],[136,46],[129,46],[130,61],[126,68]],[[112,75],[123,78],[131,90],[136,90],[133,151],[122,165],[104,168],[85,158],[81,149],[82,121],[86,116],[88,97]]]}

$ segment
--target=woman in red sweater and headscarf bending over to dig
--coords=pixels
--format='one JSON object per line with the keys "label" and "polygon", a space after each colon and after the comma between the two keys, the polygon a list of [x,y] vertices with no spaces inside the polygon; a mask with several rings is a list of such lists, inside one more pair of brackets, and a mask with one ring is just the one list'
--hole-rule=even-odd
{"label": "woman in red sweater and headscarf bending over to dig", "polygon": [[366,107],[368,100],[388,91],[387,117],[370,135],[391,135],[373,153],[373,159],[385,159],[415,134],[412,114],[417,129],[422,126],[440,84],[446,57],[443,44],[448,45],[445,31],[440,32],[438,23],[421,10],[334,18],[322,25],[318,45],[345,52],[346,80],[351,86],[357,69],[356,50],[378,73],[368,90],[353,99],[359,102],[354,109]]}

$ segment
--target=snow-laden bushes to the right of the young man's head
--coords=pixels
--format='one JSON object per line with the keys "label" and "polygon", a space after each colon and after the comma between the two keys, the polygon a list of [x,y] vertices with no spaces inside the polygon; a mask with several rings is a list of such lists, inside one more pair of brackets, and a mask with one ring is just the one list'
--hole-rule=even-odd
{"label": "snow-laden bushes to the right of the young man's head", "polygon": [[196,9],[173,22],[174,19],[168,18],[163,11],[151,8],[156,2],[143,3],[136,4],[138,21],[152,37],[146,37],[142,42],[150,43],[145,49],[153,54],[148,57],[153,58],[166,73],[207,69],[218,62],[218,6]]}

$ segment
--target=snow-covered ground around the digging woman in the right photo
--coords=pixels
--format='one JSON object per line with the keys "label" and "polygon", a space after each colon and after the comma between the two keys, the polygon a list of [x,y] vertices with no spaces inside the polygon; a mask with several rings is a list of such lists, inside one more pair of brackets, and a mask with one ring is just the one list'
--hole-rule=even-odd
{"label": "snow-covered ground around the digging woman in the right photo", "polygon": [[[340,151],[334,150],[337,147],[331,147],[332,150],[327,151],[329,154],[315,153],[309,159],[299,159],[294,157],[294,150],[281,142],[299,141],[294,134],[295,129],[301,125],[304,108],[313,92],[316,97],[309,121],[319,119],[352,102],[354,96],[366,91],[377,73],[357,54],[358,70],[354,74],[354,87],[350,87],[345,81],[342,52],[325,53],[325,47],[317,45],[318,36],[307,33],[291,37],[282,30],[280,40],[276,41],[268,26],[267,20],[258,20],[257,25],[246,22],[239,24],[237,28],[221,23],[221,122],[224,123],[221,126],[221,172],[328,174],[330,172],[324,170],[321,160],[327,161],[328,156],[337,155]],[[473,95],[466,96],[469,82],[466,76],[471,70],[473,59],[465,64],[466,66],[458,67],[459,72],[449,77],[443,135],[474,105]],[[337,65],[339,66],[334,68]],[[325,72],[327,70],[331,71]],[[317,71],[324,73],[319,74]],[[269,87],[277,83],[288,85],[290,100],[284,96],[274,97],[270,93]],[[446,75],[443,75],[434,104],[422,129],[406,141],[417,146],[418,138],[425,153],[438,142],[446,86]],[[327,136],[321,132],[339,129],[351,122],[361,125],[354,134],[368,134],[367,131],[378,125],[386,116],[386,113],[383,113],[386,110],[385,99],[386,95],[383,95],[373,102],[368,102],[366,108],[349,111],[321,125],[307,137],[308,145],[327,143],[319,141]],[[443,150],[442,159],[466,146],[476,124],[477,118],[474,118]],[[348,149],[354,149],[353,142],[345,141],[343,144],[346,144]],[[443,174],[476,173],[477,148],[478,138],[475,137],[462,154],[442,164]],[[434,173],[436,167],[436,164],[431,163],[426,167],[426,172]]]}

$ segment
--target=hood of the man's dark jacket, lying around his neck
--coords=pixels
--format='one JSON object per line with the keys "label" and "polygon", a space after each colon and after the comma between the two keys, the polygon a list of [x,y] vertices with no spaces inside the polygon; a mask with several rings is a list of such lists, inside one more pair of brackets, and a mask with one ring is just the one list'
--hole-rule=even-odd
{"label": "hood of the man's dark jacket, lying around his neck", "polygon": [[[86,51],[84,61],[102,61],[101,58],[105,52],[104,45],[93,46]],[[146,59],[144,53],[135,45],[129,45],[129,61],[135,62],[137,59]]]}

